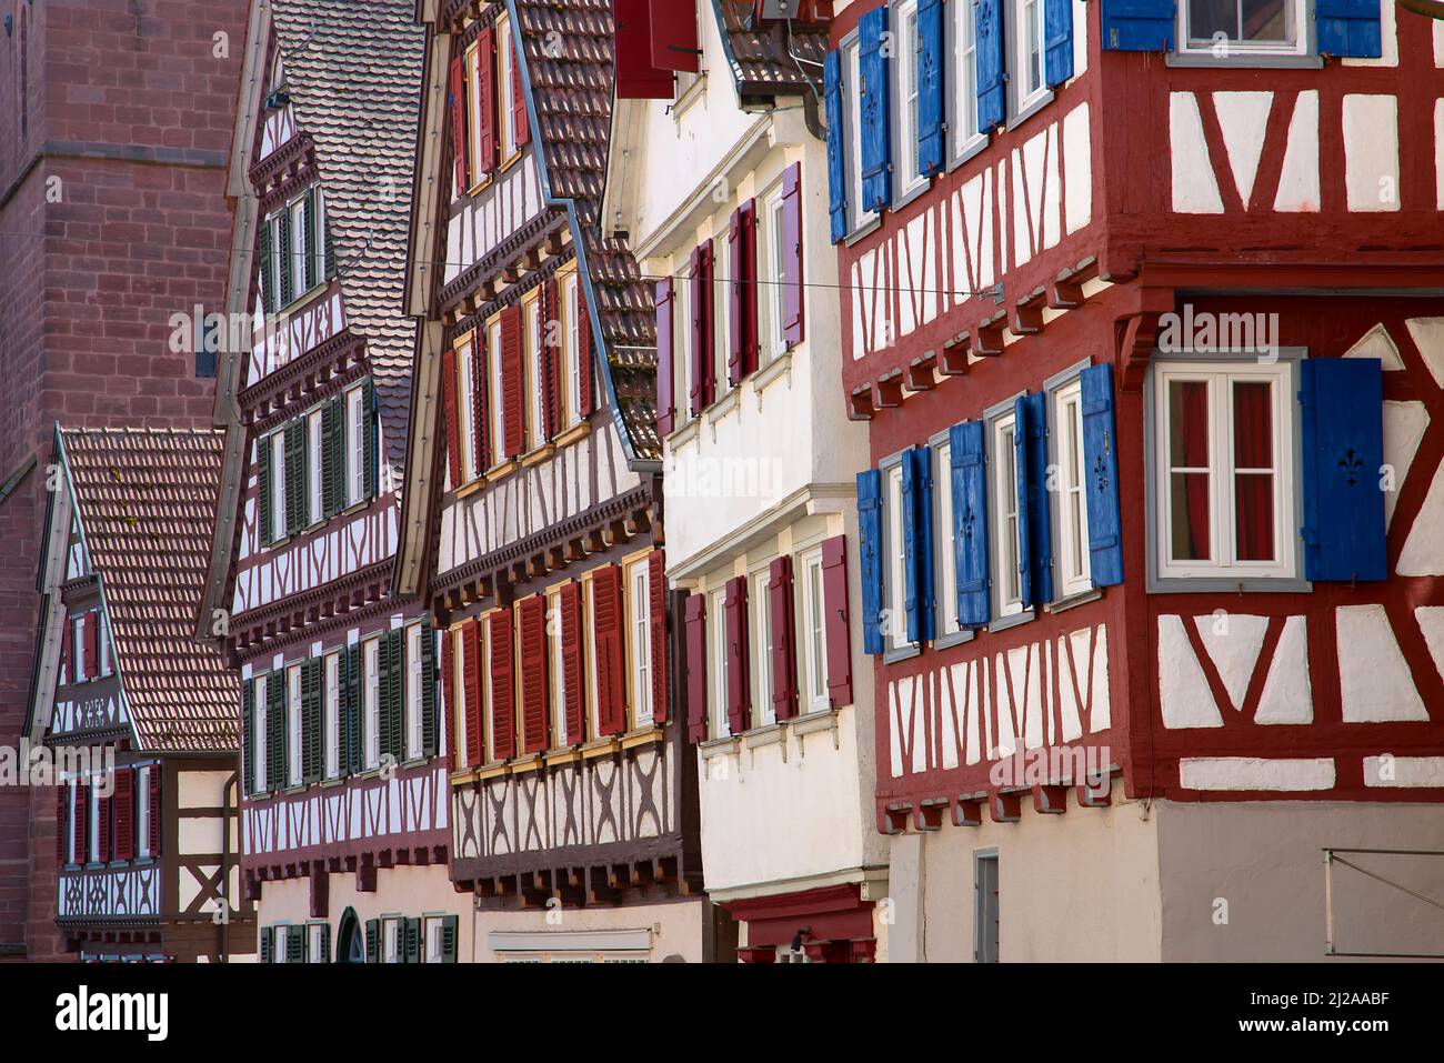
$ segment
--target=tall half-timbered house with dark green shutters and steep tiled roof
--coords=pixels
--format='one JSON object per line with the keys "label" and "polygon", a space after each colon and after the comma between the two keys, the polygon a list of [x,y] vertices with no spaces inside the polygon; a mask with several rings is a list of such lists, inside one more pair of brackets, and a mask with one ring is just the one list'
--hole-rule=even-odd
{"label": "tall half-timbered house with dark green shutters and steep tiled roof", "polygon": [[452,962],[427,609],[390,591],[422,33],[409,0],[257,0],[230,192],[225,475],[198,624],[240,672],[263,962]]}

